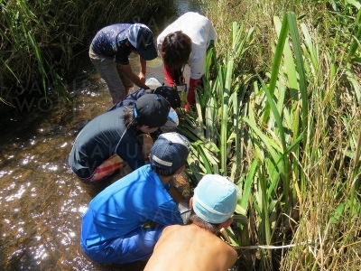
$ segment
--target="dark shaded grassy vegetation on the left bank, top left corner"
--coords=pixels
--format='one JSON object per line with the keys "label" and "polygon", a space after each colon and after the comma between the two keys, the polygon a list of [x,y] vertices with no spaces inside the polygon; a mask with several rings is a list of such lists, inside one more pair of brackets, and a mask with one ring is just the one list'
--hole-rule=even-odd
{"label": "dark shaded grassy vegetation on the left bank, top left corner", "polygon": [[[38,82],[46,96],[60,91],[72,59],[88,48],[99,28],[149,16],[160,0],[0,1],[0,101]],[[36,86],[38,87],[38,86]]]}

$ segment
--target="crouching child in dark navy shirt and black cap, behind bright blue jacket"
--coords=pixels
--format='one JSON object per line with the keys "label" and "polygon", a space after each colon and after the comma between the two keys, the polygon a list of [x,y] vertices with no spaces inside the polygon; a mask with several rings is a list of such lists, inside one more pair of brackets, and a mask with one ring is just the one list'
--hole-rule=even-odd
{"label": "crouching child in dark navy shirt and black cap, behind bright blue jacket", "polygon": [[149,134],[167,122],[170,109],[162,96],[146,94],[133,106],[95,117],[74,141],[69,154],[72,171],[85,182],[97,182],[125,163],[132,171],[143,166],[153,145]]}

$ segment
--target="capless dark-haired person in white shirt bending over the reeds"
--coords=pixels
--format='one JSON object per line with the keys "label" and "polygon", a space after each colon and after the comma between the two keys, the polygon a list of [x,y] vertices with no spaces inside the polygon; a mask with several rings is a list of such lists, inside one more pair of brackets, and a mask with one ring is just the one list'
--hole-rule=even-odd
{"label": "capless dark-haired person in white shirt bending over the reeds", "polygon": [[181,81],[182,69],[190,65],[190,86],[187,99],[195,103],[194,89],[201,86],[206,72],[207,51],[216,40],[216,31],[205,16],[189,12],[171,23],[157,38],[158,51],[164,64],[167,84],[174,87]]}

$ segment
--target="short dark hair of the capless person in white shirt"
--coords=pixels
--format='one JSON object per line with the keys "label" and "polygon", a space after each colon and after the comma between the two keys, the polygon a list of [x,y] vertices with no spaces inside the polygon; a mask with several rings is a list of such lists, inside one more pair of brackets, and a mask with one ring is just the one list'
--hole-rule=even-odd
{"label": "short dark hair of the capless person in white shirt", "polygon": [[169,33],[162,42],[161,55],[164,66],[178,70],[190,59],[192,41],[181,31]]}

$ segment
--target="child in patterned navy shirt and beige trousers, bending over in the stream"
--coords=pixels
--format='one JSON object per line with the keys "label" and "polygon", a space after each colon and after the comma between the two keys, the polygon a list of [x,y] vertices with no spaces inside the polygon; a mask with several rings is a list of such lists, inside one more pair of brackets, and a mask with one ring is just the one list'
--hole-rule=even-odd
{"label": "child in patterned navy shirt and beige trousers, bending over in the stream", "polygon": [[[139,54],[141,70],[136,75],[129,63],[132,51]],[[128,95],[133,84],[145,84],[146,61],[157,57],[152,31],[142,23],[116,23],[100,29],[89,48],[89,57],[106,81],[113,104]]]}

